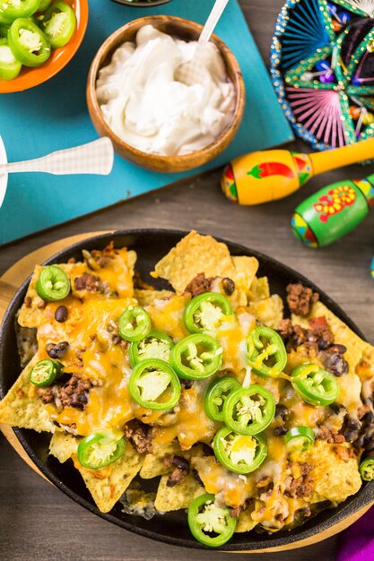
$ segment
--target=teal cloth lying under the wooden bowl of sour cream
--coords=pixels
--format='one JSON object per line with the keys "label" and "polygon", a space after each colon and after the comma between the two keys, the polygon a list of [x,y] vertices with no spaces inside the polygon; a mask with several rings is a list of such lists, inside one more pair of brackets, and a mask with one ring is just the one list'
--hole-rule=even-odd
{"label": "teal cloth lying under the wooden bowl of sour cream", "polygon": [[[91,60],[110,33],[146,14],[178,15],[204,23],[212,6],[213,0],[173,0],[142,9],[90,0],[88,29],[72,62],[32,90],[0,96],[0,135],[8,160],[29,160],[97,138],[86,108],[85,84]],[[230,0],[216,32],[237,56],[247,87],[243,123],[226,151],[203,168],[172,175],[137,168],[119,157],[109,177],[13,174],[0,209],[0,245],[217,168],[246,151],[291,141],[290,126],[237,0]]]}

